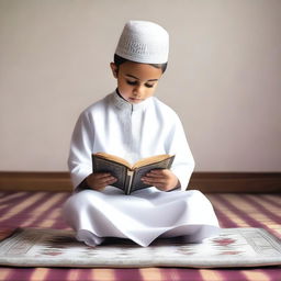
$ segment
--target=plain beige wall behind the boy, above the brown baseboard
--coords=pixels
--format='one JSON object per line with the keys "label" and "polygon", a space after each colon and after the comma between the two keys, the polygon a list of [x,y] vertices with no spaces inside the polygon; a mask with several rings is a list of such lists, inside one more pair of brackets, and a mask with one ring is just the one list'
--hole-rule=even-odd
{"label": "plain beige wall behind the boy, above the brown baseboard", "polygon": [[0,0],[0,170],[65,171],[79,113],[115,89],[127,20],[170,33],[157,97],[196,171],[281,170],[281,1]]}

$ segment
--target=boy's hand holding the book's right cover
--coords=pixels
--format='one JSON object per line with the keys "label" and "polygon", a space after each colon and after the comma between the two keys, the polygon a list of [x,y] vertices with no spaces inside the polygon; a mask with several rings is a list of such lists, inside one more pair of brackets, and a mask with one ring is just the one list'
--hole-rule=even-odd
{"label": "boy's hand holding the book's right cover", "polygon": [[169,191],[179,186],[177,176],[169,169],[150,170],[142,181],[161,191]]}

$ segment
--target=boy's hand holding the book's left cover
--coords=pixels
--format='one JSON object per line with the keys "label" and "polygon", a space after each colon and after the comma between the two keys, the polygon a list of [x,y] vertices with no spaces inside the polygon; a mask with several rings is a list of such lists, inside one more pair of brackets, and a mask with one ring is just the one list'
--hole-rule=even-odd
{"label": "boy's hand holding the book's left cover", "polygon": [[115,181],[117,181],[117,179],[112,177],[109,172],[95,172],[86,178],[87,186],[93,190],[102,190]]}

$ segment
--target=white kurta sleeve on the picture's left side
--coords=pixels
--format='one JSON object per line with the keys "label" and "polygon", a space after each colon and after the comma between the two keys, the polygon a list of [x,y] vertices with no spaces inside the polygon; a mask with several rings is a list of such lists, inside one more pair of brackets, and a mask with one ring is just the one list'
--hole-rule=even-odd
{"label": "white kurta sleeve on the picture's left side", "polygon": [[74,188],[77,188],[86,177],[92,173],[92,142],[91,122],[88,114],[83,112],[76,123],[68,157],[68,168]]}

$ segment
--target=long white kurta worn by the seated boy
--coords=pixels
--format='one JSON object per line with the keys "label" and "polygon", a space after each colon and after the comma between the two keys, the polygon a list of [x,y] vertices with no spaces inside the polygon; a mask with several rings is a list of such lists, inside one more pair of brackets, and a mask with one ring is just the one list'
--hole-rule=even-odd
{"label": "long white kurta worn by the seated boy", "polygon": [[75,193],[64,206],[64,216],[79,240],[93,246],[102,241],[100,237],[114,236],[148,246],[158,236],[186,235],[194,241],[217,233],[209,200],[199,191],[183,191],[194,160],[178,115],[157,98],[131,104],[113,92],[82,112],[68,159],[74,187],[92,172],[91,154],[98,151],[132,164],[154,155],[176,155],[171,170],[182,191],[151,187],[125,195],[106,187]]}

